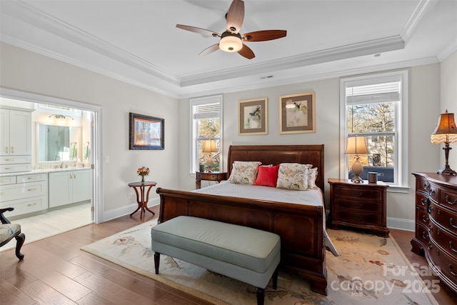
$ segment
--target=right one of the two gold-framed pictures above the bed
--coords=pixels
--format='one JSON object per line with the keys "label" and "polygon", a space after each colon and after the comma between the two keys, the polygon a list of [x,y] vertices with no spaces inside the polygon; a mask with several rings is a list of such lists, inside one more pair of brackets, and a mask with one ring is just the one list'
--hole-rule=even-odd
{"label": "right one of the two gold-framed pictures above the bed", "polygon": [[316,132],[316,93],[279,97],[279,133]]}

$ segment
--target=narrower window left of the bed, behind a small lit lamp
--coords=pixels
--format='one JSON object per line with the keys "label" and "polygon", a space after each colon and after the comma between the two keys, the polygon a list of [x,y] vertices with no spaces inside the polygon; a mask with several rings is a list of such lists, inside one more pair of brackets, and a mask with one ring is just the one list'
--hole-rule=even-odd
{"label": "narrower window left of the bed, behind a small lit lamp", "polygon": [[[212,171],[222,170],[222,96],[191,99],[191,173],[203,164]],[[205,141],[216,144],[216,151],[204,152]],[[208,147],[208,146],[207,146]],[[210,146],[211,147],[211,146]]]}

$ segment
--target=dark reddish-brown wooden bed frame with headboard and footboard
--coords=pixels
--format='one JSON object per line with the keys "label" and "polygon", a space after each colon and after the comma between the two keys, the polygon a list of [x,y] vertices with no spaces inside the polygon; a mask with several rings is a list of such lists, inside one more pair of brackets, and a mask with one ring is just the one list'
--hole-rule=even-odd
{"label": "dark reddish-brown wooden bed frame with headboard and footboard", "polygon": [[[262,164],[296,162],[318,168],[316,185],[324,187],[322,145],[230,146],[228,171],[233,161],[261,161]],[[311,281],[311,290],[327,294],[323,206],[306,206],[277,201],[216,196],[193,191],[157,189],[161,206],[159,223],[188,215],[230,224],[250,226],[281,236],[281,268],[296,271]]]}

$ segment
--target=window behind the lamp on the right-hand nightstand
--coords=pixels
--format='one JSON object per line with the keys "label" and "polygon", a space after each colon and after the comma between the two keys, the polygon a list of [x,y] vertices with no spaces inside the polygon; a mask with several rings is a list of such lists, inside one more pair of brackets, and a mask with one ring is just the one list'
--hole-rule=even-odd
{"label": "window behind the lamp on the right-hand nightstand", "polygon": [[[398,71],[341,79],[341,148],[348,136],[365,136],[368,154],[361,154],[361,178],[376,171],[378,180],[407,186],[408,72]],[[341,173],[352,178],[356,155],[345,155]]]}

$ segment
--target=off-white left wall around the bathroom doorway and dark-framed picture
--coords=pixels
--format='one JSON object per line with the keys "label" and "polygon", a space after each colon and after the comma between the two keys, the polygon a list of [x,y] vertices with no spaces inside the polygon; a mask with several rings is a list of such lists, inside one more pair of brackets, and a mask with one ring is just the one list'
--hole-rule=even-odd
{"label": "off-white left wall around the bathroom doorway and dark-framed picture", "polygon": [[[104,220],[129,214],[136,208],[129,200],[136,169],[149,166],[148,180],[157,186],[178,188],[178,101],[106,76],[80,69],[9,44],[0,44],[0,86],[16,91],[102,106],[102,147],[109,163],[103,166]],[[129,150],[129,112],[165,119],[165,150]],[[159,203],[155,191],[150,201]]]}

